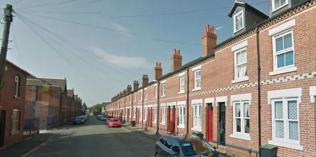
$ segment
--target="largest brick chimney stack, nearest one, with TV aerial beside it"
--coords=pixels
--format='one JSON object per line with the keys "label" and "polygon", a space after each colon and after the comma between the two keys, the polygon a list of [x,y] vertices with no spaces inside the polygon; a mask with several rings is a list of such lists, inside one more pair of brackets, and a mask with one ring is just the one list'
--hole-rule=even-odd
{"label": "largest brick chimney stack, nearest one, with TV aerial beside it", "polygon": [[214,33],[214,27],[206,25],[204,27],[204,33],[201,36],[202,39],[202,57],[206,56],[216,46],[217,35]]}

